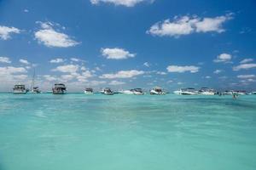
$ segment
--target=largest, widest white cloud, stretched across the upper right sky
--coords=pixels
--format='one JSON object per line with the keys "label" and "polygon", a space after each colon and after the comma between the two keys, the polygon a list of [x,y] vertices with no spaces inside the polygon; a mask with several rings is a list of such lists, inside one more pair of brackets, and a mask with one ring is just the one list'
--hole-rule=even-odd
{"label": "largest, widest white cloud, stretched across the upper right sky", "polygon": [[163,22],[154,24],[150,27],[147,33],[160,37],[180,37],[194,32],[214,31],[221,33],[224,31],[222,25],[226,20],[230,20],[231,18],[231,14],[215,18],[200,18],[198,16],[189,17],[187,15],[182,17],[175,16],[172,21],[164,20]]}

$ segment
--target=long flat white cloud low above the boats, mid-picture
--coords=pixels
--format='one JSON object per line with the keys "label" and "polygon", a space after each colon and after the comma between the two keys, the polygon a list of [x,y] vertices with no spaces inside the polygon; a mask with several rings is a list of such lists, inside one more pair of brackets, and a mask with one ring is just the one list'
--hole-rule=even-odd
{"label": "long flat white cloud low above the boats, mid-picture", "polygon": [[131,78],[131,77],[137,77],[139,75],[143,75],[144,71],[137,71],[137,70],[131,70],[131,71],[118,71],[115,74],[103,74],[100,78]]}

